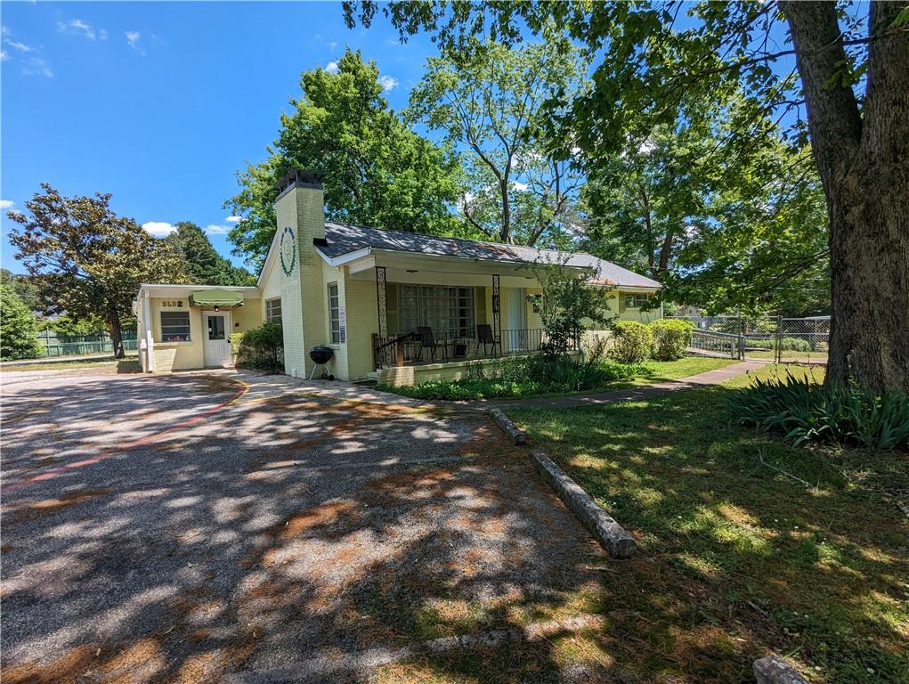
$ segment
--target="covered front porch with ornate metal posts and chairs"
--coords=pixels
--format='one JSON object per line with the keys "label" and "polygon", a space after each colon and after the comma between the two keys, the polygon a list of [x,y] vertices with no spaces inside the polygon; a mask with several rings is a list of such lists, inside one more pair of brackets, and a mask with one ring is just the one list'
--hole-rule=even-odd
{"label": "covered front porch with ornate metal posts and chairs", "polygon": [[375,249],[351,261],[348,278],[375,285],[369,377],[395,385],[457,379],[476,360],[538,353],[546,337],[528,296],[542,294],[539,269]]}

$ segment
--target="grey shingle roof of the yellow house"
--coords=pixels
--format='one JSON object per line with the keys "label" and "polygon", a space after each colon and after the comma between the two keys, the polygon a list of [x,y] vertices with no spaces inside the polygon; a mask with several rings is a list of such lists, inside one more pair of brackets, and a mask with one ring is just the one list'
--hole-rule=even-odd
{"label": "grey shingle roof of the yellow house", "polygon": [[566,266],[591,268],[601,280],[610,285],[627,287],[661,287],[655,280],[613,264],[584,254],[584,252],[559,252],[554,249],[537,249],[516,245],[502,245],[495,242],[462,240],[454,237],[435,237],[405,233],[399,230],[381,230],[364,226],[351,226],[326,221],[325,240],[327,245],[319,246],[326,257],[341,257],[366,247],[388,249],[395,252],[411,252],[434,257],[467,257],[494,261],[514,261],[518,264],[533,264],[538,261],[563,263]]}

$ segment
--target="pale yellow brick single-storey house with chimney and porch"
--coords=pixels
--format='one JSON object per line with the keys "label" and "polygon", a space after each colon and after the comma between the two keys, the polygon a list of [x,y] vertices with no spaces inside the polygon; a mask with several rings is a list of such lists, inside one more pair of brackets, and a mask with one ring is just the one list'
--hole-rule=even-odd
{"label": "pale yellow brick single-storey house with chimney and porch", "polygon": [[325,345],[340,379],[460,377],[467,358],[539,349],[540,315],[527,295],[541,292],[534,276],[541,262],[596,272],[614,287],[610,306],[620,318],[660,317],[658,309],[641,310],[659,283],[587,254],[326,222],[312,173],[285,177],[275,213],[277,231],[255,287],[140,288],[135,310],[146,371],[229,366],[230,333],[275,319],[290,376],[308,377],[309,350]]}

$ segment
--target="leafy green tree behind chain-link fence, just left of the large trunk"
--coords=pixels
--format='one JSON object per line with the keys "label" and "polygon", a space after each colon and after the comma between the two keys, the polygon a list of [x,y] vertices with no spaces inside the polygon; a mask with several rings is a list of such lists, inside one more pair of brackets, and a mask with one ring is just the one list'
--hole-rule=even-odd
{"label": "leafy green tree behind chain-link fence, just left of the large trunk", "polygon": [[729,149],[735,103],[723,111],[656,126],[599,165],[584,247],[648,270],[662,298],[711,312],[823,313],[827,217],[810,150],[785,145],[768,120],[754,146]]}

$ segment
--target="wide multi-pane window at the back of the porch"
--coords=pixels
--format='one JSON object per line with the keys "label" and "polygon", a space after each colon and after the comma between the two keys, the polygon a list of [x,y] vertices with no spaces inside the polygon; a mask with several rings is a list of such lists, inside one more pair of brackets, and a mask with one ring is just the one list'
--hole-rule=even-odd
{"label": "wide multi-pane window at the back of the porch", "polygon": [[398,286],[398,316],[402,333],[427,326],[440,336],[474,337],[474,288]]}

